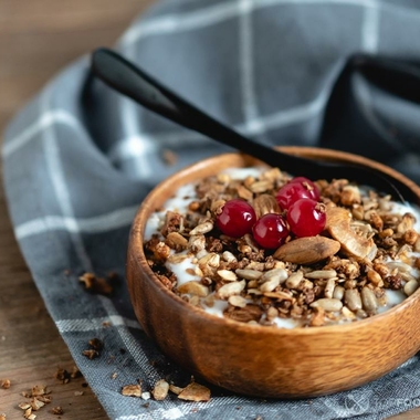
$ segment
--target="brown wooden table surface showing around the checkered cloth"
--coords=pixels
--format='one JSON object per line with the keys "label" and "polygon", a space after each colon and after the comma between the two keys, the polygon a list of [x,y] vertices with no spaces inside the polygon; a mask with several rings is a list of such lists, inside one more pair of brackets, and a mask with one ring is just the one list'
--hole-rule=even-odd
{"label": "brown wooden table surface showing around the checkered cloth", "polygon": [[[154,0],[1,0],[0,132],[10,117],[72,60],[112,45],[132,19]],[[0,190],[0,413],[22,419],[22,391],[48,386],[51,405],[38,419],[104,420],[107,416],[83,378],[62,384],[57,368],[74,366],[22,259]],[[80,395],[83,392],[83,395]],[[397,417],[420,419],[420,409]]]}

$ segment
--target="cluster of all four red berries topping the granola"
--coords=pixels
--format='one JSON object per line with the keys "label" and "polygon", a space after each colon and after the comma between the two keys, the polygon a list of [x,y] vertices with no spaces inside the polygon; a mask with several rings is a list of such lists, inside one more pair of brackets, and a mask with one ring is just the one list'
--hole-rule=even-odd
{"label": "cluster of all four red berries topping the granola", "polygon": [[224,203],[217,217],[218,228],[227,235],[241,238],[246,233],[264,249],[276,249],[292,232],[296,237],[315,237],[324,230],[326,216],[319,204],[319,190],[305,177],[293,178],[276,193],[283,214],[267,213],[256,220],[251,204],[241,199]]}

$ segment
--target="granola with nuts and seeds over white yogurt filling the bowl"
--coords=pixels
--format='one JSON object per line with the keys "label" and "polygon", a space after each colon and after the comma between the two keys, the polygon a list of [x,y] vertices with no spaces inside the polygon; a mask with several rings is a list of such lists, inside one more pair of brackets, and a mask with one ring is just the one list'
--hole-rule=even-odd
{"label": "granola with nuts and seeds over white yogurt filling the bowl", "polygon": [[[363,319],[416,292],[416,210],[338,179],[301,181],[311,203],[298,200],[296,212],[284,204],[291,195],[279,196],[293,180],[277,168],[238,168],[181,188],[147,224],[150,267],[208,313],[285,328]],[[223,219],[238,199],[245,222]],[[261,220],[265,230],[255,228]],[[281,221],[276,246],[264,242],[272,220]]]}

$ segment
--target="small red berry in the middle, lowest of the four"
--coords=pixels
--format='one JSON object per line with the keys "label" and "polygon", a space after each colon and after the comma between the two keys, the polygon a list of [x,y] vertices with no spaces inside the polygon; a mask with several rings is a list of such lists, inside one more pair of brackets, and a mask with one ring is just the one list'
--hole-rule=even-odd
{"label": "small red berry in the middle, lowest of the four", "polygon": [[283,244],[288,235],[288,228],[281,214],[267,213],[258,220],[252,233],[260,246],[273,250]]}

